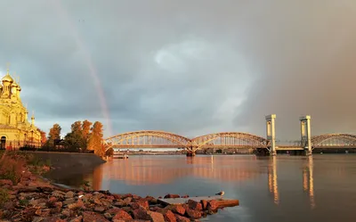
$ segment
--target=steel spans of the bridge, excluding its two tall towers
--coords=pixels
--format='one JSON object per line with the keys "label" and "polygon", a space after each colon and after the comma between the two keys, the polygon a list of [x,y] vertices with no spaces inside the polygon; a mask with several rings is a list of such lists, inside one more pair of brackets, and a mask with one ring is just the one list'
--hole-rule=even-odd
{"label": "steel spans of the bridge, excluding its two tall towers", "polygon": [[[109,148],[182,148],[197,151],[205,148],[265,148],[270,142],[262,136],[247,133],[224,132],[187,138],[158,130],[142,130],[118,134],[105,139]],[[356,136],[350,134],[326,134],[312,136],[312,148],[356,148]],[[301,145],[279,144],[277,150],[303,150]]]}

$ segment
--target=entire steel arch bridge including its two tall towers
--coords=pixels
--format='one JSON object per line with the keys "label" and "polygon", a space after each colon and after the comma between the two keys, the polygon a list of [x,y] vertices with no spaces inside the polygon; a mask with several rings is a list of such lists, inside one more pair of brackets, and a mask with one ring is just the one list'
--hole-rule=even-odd
{"label": "entire steel arch bridge including its two tall towers", "polygon": [[[315,148],[356,148],[356,136],[349,134],[326,134],[310,136],[310,117],[301,119],[301,141],[296,144],[276,144],[274,135],[275,115],[266,117],[267,136],[255,136],[241,132],[223,132],[188,138],[158,130],[141,130],[111,136],[105,139],[109,148],[179,148],[194,155],[207,148],[256,149],[275,155],[277,151],[305,151],[312,154]],[[309,130],[309,131],[308,131]]]}

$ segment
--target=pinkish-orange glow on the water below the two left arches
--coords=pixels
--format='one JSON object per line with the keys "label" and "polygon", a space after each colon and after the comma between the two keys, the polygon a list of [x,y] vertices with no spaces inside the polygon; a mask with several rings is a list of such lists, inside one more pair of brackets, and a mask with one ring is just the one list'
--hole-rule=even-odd
{"label": "pinkish-orange glow on the water below the two left arches", "polygon": [[126,185],[165,185],[182,177],[240,181],[263,174],[257,170],[247,169],[247,162],[236,161],[233,157],[227,159],[214,156],[172,159],[134,157],[128,160],[109,160],[96,169],[101,169],[101,174],[99,171],[96,172],[98,177],[95,176],[93,180],[117,180]]}

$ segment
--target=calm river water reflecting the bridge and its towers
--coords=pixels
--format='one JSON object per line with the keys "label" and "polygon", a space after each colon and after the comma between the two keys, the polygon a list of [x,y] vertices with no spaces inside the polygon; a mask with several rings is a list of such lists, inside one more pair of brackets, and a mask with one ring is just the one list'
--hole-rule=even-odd
{"label": "calm river water reflecting the bridge and its towers", "polygon": [[51,177],[77,186],[141,196],[190,196],[225,192],[240,206],[202,221],[355,221],[356,155],[255,157],[244,155],[130,156],[94,170]]}

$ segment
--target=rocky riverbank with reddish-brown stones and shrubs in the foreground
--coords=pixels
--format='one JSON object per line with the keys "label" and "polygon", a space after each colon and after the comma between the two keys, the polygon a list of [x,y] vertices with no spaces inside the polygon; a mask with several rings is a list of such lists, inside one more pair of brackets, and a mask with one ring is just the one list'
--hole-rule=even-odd
{"label": "rocky riverbank with reddish-brown stones and shrubs in the foreground", "polygon": [[[6,169],[6,166],[11,168]],[[0,160],[0,218],[3,221],[190,221],[220,208],[218,201],[188,201],[162,205],[158,199],[135,194],[64,189],[40,177],[50,168],[28,156],[2,156]],[[10,171],[9,171],[10,170]],[[165,198],[179,195],[167,194]],[[187,197],[187,196],[185,196]]]}

